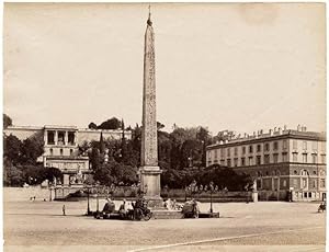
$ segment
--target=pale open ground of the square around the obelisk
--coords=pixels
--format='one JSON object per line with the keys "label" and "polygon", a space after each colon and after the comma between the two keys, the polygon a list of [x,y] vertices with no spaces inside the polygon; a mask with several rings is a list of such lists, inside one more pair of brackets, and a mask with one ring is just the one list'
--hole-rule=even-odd
{"label": "pale open ground of the square around the obelisk", "polygon": [[[67,216],[61,215],[64,204]],[[220,213],[218,219],[123,221],[82,216],[87,202],[7,202],[4,249],[325,251],[326,214],[318,214],[317,207],[314,203],[222,203],[214,204],[214,210]],[[91,208],[95,209],[95,201]],[[201,208],[206,211],[209,204]]]}

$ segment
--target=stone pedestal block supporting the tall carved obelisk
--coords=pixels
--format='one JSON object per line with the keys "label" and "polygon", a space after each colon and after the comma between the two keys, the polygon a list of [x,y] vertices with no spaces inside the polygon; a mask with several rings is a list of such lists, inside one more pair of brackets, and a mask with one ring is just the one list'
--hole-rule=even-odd
{"label": "stone pedestal block supporting the tall carved obelisk", "polygon": [[148,202],[151,209],[164,209],[163,199],[160,196],[160,174],[162,171],[159,167],[141,167],[140,190],[144,192],[144,198]]}

